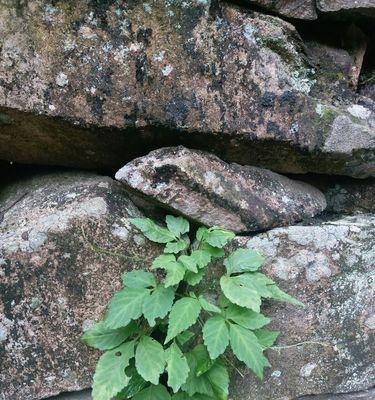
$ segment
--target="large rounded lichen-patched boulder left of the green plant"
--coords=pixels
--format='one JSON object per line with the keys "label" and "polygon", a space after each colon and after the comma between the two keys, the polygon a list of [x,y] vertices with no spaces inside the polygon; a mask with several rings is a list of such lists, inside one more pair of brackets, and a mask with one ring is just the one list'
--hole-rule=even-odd
{"label": "large rounded lichen-patched boulder left of the green plant", "polygon": [[0,399],[87,388],[98,353],[79,338],[121,272],[140,265],[126,255],[157,248],[132,229],[127,218],[141,213],[109,178],[55,173],[3,189]]}

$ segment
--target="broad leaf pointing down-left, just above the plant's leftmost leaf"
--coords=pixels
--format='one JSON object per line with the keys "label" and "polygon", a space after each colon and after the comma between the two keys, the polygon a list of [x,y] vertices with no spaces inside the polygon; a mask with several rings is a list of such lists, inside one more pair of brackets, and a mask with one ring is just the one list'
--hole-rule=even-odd
{"label": "broad leaf pointing down-left, just above the plant's leftmost leaf", "polygon": [[111,329],[121,328],[142,315],[143,302],[150,295],[148,289],[125,288],[111,299],[104,324]]}

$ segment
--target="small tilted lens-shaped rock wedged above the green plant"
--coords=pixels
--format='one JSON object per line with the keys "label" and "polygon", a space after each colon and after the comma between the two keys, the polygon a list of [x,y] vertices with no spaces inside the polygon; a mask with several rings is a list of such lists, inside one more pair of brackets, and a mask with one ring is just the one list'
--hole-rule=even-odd
{"label": "small tilted lens-shaped rock wedged above the green plant", "polygon": [[182,146],[137,158],[116,179],[168,210],[235,232],[288,225],[326,207],[324,195],[306,183]]}

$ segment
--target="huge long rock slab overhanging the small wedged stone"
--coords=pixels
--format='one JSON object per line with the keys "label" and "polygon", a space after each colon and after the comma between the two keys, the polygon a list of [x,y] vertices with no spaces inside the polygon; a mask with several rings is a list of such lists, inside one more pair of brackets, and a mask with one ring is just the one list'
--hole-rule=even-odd
{"label": "huge long rock slab overhanging the small wedged stone", "polygon": [[311,96],[319,69],[279,18],[216,0],[7,1],[0,48],[0,159],[119,168],[157,139],[284,172],[374,175],[371,110]]}

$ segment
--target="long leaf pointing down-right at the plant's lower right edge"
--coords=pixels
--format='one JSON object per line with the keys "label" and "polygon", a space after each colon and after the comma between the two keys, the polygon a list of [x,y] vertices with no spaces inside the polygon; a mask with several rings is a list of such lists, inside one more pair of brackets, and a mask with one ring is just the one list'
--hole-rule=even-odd
{"label": "long leaf pointing down-right at the plant's lower right edge", "polygon": [[250,368],[256,376],[263,379],[263,369],[270,363],[263,355],[263,349],[253,332],[239,325],[230,324],[230,345],[233,353]]}

